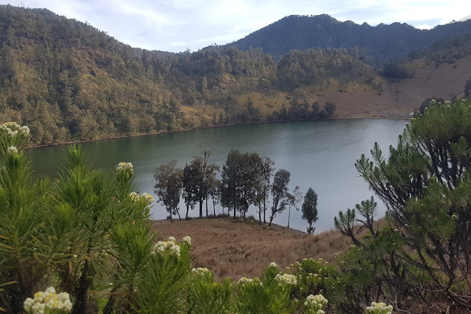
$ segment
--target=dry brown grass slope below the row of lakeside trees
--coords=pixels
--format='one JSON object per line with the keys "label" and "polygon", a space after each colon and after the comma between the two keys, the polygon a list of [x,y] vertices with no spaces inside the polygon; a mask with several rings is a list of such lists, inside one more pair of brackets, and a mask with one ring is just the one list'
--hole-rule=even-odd
{"label": "dry brown grass slope below the row of lakeside trees", "polygon": [[333,262],[335,253],[348,250],[350,240],[338,231],[309,236],[280,226],[260,226],[256,221],[233,218],[155,221],[161,238],[191,236],[193,264],[207,267],[217,278],[260,276],[270,262],[284,268],[303,258]]}

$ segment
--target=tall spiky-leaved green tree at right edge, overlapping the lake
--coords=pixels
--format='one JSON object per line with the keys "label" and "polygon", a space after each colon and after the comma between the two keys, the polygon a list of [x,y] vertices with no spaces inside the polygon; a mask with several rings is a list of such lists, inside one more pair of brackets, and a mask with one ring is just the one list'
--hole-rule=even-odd
{"label": "tall spiky-leaved green tree at right edge, overlapping the lake", "polygon": [[[382,236],[395,231],[407,243],[383,260],[390,274],[395,274],[388,282],[407,284],[416,273],[408,277],[401,272],[418,267],[424,275],[413,285],[420,290],[417,297],[446,293],[467,309],[471,308],[467,280],[471,275],[471,201],[465,197],[471,191],[470,106],[471,101],[457,101],[453,106],[432,102],[406,126],[388,158],[375,143],[373,160],[362,155],[355,163],[388,208],[390,228],[375,238],[393,238]],[[391,248],[397,240],[394,243]]]}

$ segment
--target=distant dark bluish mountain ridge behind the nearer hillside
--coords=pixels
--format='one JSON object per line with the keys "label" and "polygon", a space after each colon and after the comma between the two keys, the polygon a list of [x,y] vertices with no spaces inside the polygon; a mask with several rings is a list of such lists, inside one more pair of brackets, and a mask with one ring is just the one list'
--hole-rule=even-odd
{"label": "distant dark bluish mountain ridge behind the nearer hillside", "polygon": [[292,15],[228,46],[240,50],[261,48],[275,58],[280,58],[292,49],[355,49],[368,64],[381,65],[407,56],[410,51],[425,49],[440,39],[466,33],[471,33],[471,20],[420,30],[400,23],[370,26],[366,23],[355,24],[353,21],[340,22],[327,14]]}

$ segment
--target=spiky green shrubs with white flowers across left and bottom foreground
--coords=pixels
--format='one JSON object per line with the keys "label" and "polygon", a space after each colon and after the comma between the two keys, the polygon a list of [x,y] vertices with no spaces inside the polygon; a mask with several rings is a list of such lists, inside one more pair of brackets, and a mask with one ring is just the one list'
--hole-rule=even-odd
{"label": "spiky green shrubs with white flowers across left and bottom foreground", "polygon": [[29,136],[26,126],[0,125],[1,311],[323,314],[335,308],[322,289],[342,289],[339,273],[322,260],[305,259],[285,273],[270,263],[260,278],[237,283],[192,267],[190,237],[158,240],[151,232],[153,198],[132,191],[131,163],[92,171],[81,148],[70,146],[56,180],[34,180],[21,149]]}

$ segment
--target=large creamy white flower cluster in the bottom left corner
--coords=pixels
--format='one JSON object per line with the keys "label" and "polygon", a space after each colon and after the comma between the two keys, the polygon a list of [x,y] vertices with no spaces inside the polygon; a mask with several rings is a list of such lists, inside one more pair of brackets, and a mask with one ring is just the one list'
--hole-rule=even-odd
{"label": "large creamy white flower cluster in the bottom left corner", "polygon": [[34,293],[34,299],[27,298],[23,303],[23,308],[29,314],[65,314],[72,310],[72,303],[69,293],[56,293],[56,289],[49,287],[46,291]]}

